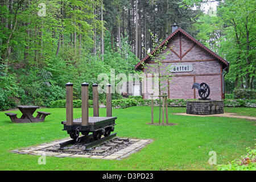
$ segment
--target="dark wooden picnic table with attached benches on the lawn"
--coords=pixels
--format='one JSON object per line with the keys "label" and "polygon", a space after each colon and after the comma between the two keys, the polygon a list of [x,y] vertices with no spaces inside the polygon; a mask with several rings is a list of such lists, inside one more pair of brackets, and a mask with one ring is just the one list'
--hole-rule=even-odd
{"label": "dark wooden picnic table with attached benches on the lawn", "polygon": [[39,106],[16,106],[22,113],[22,117],[17,118],[17,114],[14,113],[5,113],[11,118],[11,121],[16,123],[30,123],[30,122],[43,122],[47,115],[51,113],[46,113],[43,111],[37,111],[38,115],[33,116],[36,109],[39,109]]}

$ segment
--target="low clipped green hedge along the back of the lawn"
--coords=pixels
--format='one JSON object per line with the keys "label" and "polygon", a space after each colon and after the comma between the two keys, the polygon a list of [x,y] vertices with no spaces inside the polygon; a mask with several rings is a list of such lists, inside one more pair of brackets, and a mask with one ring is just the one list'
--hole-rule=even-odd
{"label": "low clipped green hedge along the back of the lawn", "polygon": [[[184,100],[184,99],[167,99],[168,107],[185,107],[187,105],[187,101],[193,100]],[[106,105],[106,101],[100,101],[104,105]],[[154,106],[159,106],[159,100],[154,100]],[[162,100],[160,102],[162,105]],[[65,108],[66,101],[65,100],[57,100],[52,101],[50,107],[52,108]],[[82,102],[81,100],[74,100],[73,107],[81,108]],[[141,97],[132,97],[132,98],[124,98],[121,100],[112,100],[112,107],[123,109],[131,106],[151,106],[151,100],[144,100]],[[89,100],[89,107],[93,107],[93,101]],[[224,107],[256,107],[256,100],[224,100]]]}

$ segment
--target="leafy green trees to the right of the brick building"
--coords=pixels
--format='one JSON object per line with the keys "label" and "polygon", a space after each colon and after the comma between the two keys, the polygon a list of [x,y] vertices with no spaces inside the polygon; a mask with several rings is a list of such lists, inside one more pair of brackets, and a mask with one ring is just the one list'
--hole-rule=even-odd
{"label": "leafy green trees to the right of the brick building", "polygon": [[[189,6],[207,1],[183,0]],[[202,14],[190,27],[197,40],[230,62],[228,92],[255,88],[255,6],[254,0],[220,1],[214,14]]]}

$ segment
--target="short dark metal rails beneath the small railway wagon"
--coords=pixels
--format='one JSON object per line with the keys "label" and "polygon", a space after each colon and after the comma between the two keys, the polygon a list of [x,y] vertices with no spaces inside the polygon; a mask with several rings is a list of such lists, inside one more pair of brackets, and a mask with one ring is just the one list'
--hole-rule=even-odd
{"label": "short dark metal rails beneath the small railway wagon", "polygon": [[63,143],[59,143],[59,150],[64,150],[64,147],[69,146],[70,144],[75,143],[85,143],[83,146],[85,147],[85,151],[92,150],[92,148],[95,148],[97,146],[100,146],[104,142],[108,142],[109,140],[112,140],[117,137],[117,133],[111,134],[108,137],[104,137],[98,140],[93,139],[93,135],[86,135],[75,139],[68,140]]}

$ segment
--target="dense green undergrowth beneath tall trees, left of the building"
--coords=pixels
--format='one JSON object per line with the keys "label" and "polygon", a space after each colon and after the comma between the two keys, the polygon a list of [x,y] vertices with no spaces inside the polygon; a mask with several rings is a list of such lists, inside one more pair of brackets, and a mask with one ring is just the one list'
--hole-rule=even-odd
{"label": "dense green undergrowth beneath tall trees, left of the building", "polygon": [[[106,40],[108,39],[109,36],[106,36]],[[126,39],[124,38],[123,41],[126,41]],[[128,75],[134,72],[133,69],[137,59],[130,49],[129,46],[123,46],[119,52],[106,49],[104,61],[100,57],[90,54],[83,57],[72,57],[70,56],[72,49],[67,49],[60,52],[59,56],[48,57],[47,64],[41,65],[41,67],[27,65],[24,68],[10,69],[10,76],[3,76],[3,80],[1,80],[4,82],[1,87],[4,89],[0,93],[1,100],[5,102],[1,109],[15,107],[15,98],[22,105],[51,107],[52,101],[65,99],[65,83],[67,82],[73,82],[74,84],[74,100],[81,99],[81,83],[89,82],[89,98],[92,100],[92,84],[100,82],[97,80],[100,73],[106,73],[110,77],[111,68],[115,68],[116,75],[118,73]],[[15,67],[15,65],[13,66]],[[126,67],[123,67],[123,65],[126,65]],[[3,68],[1,70],[4,72]],[[8,81],[10,81],[13,89],[10,89],[10,86],[6,84]],[[105,100],[105,97],[105,94],[99,94],[100,100]],[[122,98],[120,94],[113,94],[113,99],[119,98]],[[64,107],[63,105],[56,106]]]}

